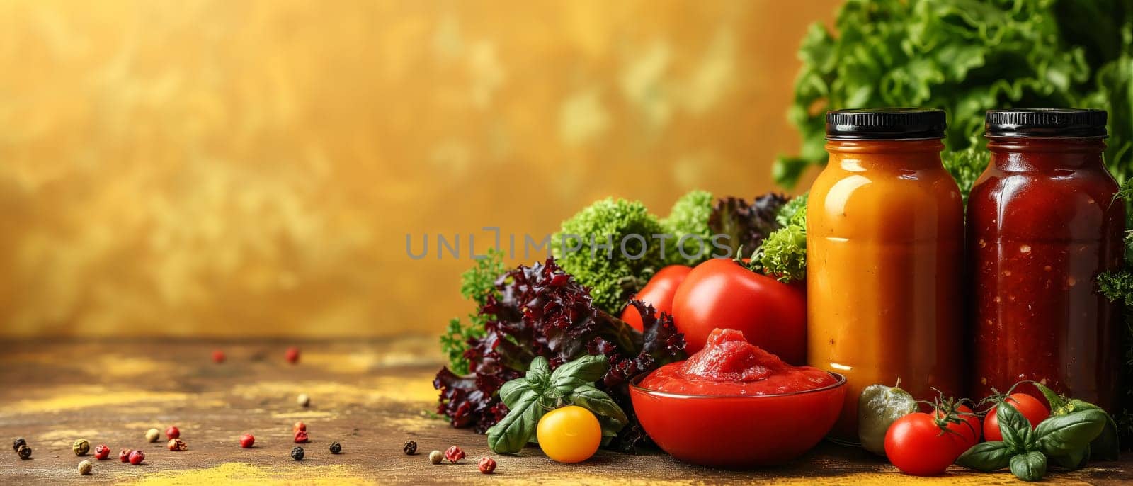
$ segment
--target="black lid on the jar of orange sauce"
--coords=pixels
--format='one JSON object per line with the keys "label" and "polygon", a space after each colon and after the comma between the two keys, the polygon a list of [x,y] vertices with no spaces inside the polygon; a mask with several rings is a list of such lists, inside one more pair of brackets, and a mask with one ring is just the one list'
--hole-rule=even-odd
{"label": "black lid on the jar of orange sauce", "polygon": [[828,140],[912,140],[944,138],[944,110],[871,108],[826,112]]}

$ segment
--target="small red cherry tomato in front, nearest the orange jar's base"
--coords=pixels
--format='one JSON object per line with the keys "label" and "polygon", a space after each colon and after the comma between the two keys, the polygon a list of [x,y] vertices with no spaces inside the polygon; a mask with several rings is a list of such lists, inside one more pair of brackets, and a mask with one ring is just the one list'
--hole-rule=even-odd
{"label": "small red cherry tomato in front, nearest the orange jar's base", "polygon": [[901,472],[936,476],[956,461],[966,438],[940,428],[931,415],[909,413],[885,433],[885,455]]}

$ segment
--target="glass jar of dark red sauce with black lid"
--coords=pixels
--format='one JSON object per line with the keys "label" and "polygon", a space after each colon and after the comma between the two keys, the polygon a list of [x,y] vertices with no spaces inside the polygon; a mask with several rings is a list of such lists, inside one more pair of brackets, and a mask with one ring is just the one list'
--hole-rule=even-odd
{"label": "glass jar of dark red sauce with black lid", "polygon": [[968,202],[974,397],[1031,380],[1114,411],[1119,309],[1094,278],[1122,262],[1125,206],[1102,110],[991,110]]}

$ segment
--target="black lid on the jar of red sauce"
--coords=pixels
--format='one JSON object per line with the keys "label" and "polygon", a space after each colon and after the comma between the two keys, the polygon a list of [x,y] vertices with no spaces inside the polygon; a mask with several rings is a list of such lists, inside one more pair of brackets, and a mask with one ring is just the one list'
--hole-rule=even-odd
{"label": "black lid on the jar of red sauce", "polygon": [[1037,108],[988,110],[983,134],[989,137],[1105,137],[1106,110]]}

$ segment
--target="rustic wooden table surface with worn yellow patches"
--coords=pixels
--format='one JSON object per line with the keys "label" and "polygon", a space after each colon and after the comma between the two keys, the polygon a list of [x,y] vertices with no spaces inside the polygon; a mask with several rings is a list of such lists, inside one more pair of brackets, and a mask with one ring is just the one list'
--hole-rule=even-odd
{"label": "rustic wooden table surface with worn yellow patches", "polygon": [[[897,472],[860,450],[820,445],[790,464],[723,471],[683,464],[655,452],[629,455],[599,451],[581,464],[559,464],[537,447],[518,457],[491,454],[486,440],[432,416],[440,366],[434,338],[397,341],[299,343],[297,365],[283,359],[289,342],[239,341],[14,341],[0,355],[0,483],[11,484],[1020,484],[1008,472],[976,474],[953,467],[937,478]],[[228,356],[214,364],[211,355]],[[296,402],[310,397],[308,408]],[[291,424],[307,424],[306,460],[290,458]],[[146,443],[145,430],[181,429],[188,451],[164,441]],[[250,432],[253,449],[238,437]],[[31,460],[7,452],[26,437]],[[77,458],[77,438],[108,444],[110,460]],[[415,440],[417,455],[401,444]],[[327,450],[342,444],[341,454]],[[468,459],[433,466],[432,450],[459,445]],[[118,451],[140,449],[140,466],[119,462]],[[496,474],[477,471],[492,455]],[[83,459],[94,474],[79,476]],[[1050,483],[1107,484],[1133,479],[1133,454],[1074,472],[1053,472]]]}

